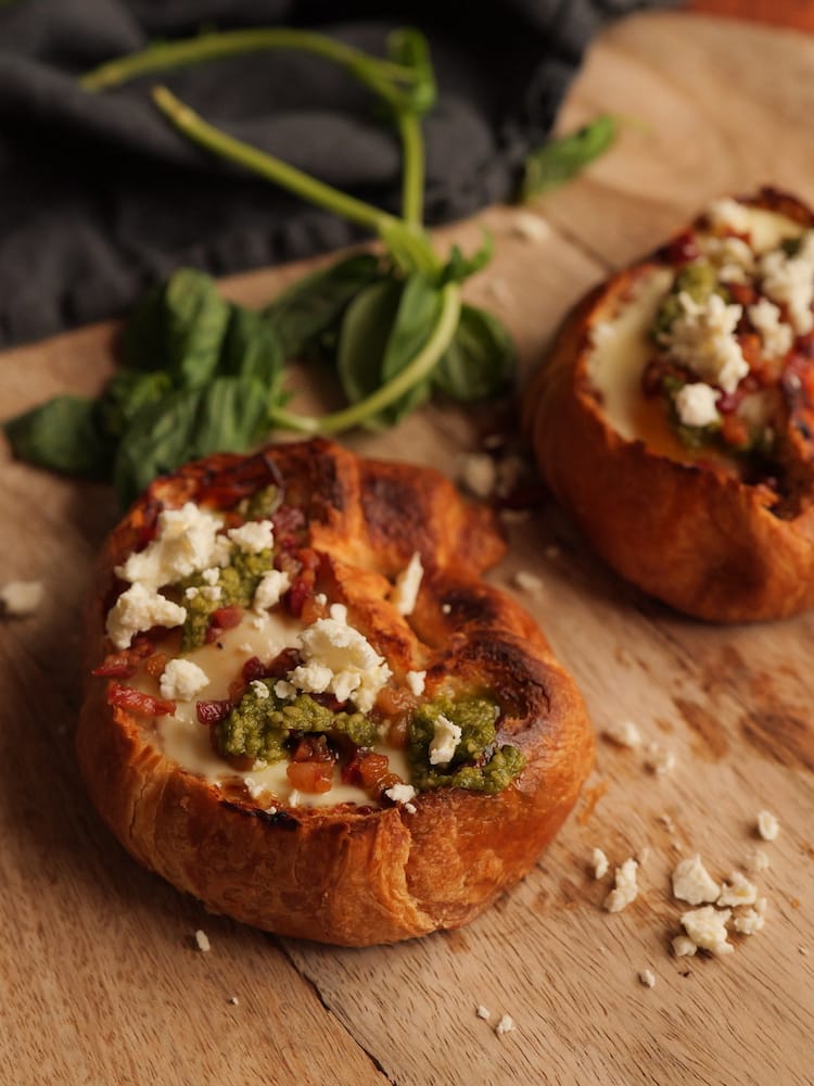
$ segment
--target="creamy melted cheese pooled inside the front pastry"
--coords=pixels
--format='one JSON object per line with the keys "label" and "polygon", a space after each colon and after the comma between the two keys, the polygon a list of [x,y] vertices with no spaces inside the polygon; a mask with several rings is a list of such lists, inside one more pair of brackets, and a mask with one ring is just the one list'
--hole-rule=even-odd
{"label": "creamy melted cheese pooled inside the front pastry", "polygon": [[[183,770],[212,784],[222,786],[242,781],[260,807],[274,807],[275,803],[298,807],[332,807],[344,803],[376,806],[363,788],[343,783],[338,766],[334,766],[333,782],[328,792],[296,794],[287,776],[288,759],[245,772],[234,769],[213,749],[209,729],[198,719],[196,702],[228,698],[229,685],[240,677],[246,660],[253,656],[269,660],[283,648],[296,646],[304,629],[302,622],[279,610],[247,614],[239,626],[224,630],[216,644],[202,645],[187,653],[183,659],[198,665],[208,675],[209,682],[194,699],[177,700],[174,716],[155,719],[158,746]],[[145,693],[158,695],[157,680],[143,671],[132,680],[132,684]],[[391,772],[398,773],[403,781],[409,783],[410,772],[403,750],[383,740],[376,743],[372,749],[386,755]]]}

